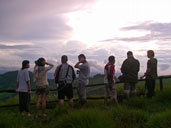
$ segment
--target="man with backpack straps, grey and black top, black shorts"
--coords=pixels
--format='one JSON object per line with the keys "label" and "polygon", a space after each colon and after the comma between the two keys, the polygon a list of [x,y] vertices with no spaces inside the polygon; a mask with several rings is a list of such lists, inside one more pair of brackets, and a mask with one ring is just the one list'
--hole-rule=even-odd
{"label": "man with backpack straps, grey and black top, black shorts", "polygon": [[68,98],[68,103],[71,109],[73,109],[73,89],[72,83],[75,76],[75,71],[71,65],[67,63],[68,57],[63,55],[61,57],[61,63],[57,66],[55,71],[55,83],[58,84],[58,99],[59,105],[64,105],[65,96]]}

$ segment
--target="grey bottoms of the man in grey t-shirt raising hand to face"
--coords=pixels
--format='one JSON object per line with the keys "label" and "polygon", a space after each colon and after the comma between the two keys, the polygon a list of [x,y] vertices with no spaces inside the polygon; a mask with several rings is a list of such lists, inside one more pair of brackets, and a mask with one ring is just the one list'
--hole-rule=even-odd
{"label": "grey bottoms of the man in grey t-shirt raising hand to face", "polygon": [[81,104],[86,104],[87,103],[87,95],[86,95],[86,83],[79,81],[79,85],[77,88],[79,100]]}

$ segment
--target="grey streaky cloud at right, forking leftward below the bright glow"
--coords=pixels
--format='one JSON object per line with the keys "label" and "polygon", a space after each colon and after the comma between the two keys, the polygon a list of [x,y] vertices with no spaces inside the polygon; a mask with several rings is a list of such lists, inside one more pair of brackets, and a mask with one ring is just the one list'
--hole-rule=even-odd
{"label": "grey streaky cloud at right, forking leftward below the bright glow", "polygon": [[121,31],[146,31],[149,34],[139,37],[116,37],[113,39],[106,39],[102,42],[111,42],[111,41],[125,41],[125,42],[149,42],[149,41],[171,41],[171,23],[153,23],[153,22],[144,22],[141,24],[123,27]]}

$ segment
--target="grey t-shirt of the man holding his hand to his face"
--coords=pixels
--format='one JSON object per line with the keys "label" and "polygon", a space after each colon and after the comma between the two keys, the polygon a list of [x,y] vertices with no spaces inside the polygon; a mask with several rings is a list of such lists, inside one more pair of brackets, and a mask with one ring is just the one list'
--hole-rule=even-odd
{"label": "grey t-shirt of the man holding his hand to his face", "polygon": [[88,84],[88,80],[90,77],[90,66],[88,62],[80,64],[78,66],[78,69],[80,69],[79,81],[83,82],[84,84]]}

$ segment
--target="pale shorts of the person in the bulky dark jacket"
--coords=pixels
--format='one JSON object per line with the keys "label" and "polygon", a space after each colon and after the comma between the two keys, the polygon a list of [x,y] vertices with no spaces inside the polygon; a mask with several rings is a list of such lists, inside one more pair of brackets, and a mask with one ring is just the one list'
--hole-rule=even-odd
{"label": "pale shorts of the person in the bulky dark jacket", "polygon": [[136,83],[126,82],[124,83],[124,92],[125,93],[136,93]]}

